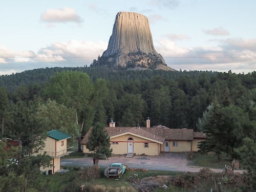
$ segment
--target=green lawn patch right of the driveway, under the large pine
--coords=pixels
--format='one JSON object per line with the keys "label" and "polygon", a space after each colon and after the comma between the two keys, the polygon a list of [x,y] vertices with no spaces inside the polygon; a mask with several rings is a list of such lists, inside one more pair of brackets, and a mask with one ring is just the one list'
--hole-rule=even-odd
{"label": "green lawn patch right of the driveway, under the large pine", "polygon": [[231,167],[232,158],[230,156],[222,155],[221,162],[218,161],[214,154],[202,155],[199,153],[193,154],[193,158],[188,160],[189,166],[200,166],[209,168],[224,168],[225,165]]}

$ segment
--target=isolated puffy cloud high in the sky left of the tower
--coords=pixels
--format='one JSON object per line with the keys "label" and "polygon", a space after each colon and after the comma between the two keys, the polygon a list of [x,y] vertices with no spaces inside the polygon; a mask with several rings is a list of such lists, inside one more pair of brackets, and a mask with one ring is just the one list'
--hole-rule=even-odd
{"label": "isolated puffy cloud high in the sky left of the tower", "polygon": [[69,7],[65,7],[63,9],[48,9],[41,16],[41,20],[52,23],[83,22],[83,19],[76,14],[74,9]]}

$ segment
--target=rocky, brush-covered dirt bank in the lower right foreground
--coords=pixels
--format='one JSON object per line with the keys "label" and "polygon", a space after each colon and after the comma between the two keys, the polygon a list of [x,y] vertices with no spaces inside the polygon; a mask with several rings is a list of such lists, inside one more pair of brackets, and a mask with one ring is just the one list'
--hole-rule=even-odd
{"label": "rocky, brush-covered dirt bank in the lower right foreground", "polygon": [[203,168],[197,173],[187,172],[178,176],[164,175],[139,179],[135,175],[128,180],[136,186],[138,191],[148,192],[154,191],[157,187],[166,188],[168,185],[198,190],[202,185],[215,186],[218,182],[230,188],[241,186],[245,182],[241,174],[224,175],[212,172],[209,168]]}

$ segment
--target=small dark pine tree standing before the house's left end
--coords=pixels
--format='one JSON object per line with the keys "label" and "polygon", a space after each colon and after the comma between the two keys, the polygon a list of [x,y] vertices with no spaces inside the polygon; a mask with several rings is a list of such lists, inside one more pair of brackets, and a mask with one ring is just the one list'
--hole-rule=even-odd
{"label": "small dark pine tree standing before the house's left end", "polygon": [[111,156],[112,148],[110,148],[110,146],[110,137],[108,133],[106,133],[104,125],[99,122],[95,123],[86,147],[94,153],[93,157],[96,159],[97,166],[101,154],[104,154],[106,158]]}

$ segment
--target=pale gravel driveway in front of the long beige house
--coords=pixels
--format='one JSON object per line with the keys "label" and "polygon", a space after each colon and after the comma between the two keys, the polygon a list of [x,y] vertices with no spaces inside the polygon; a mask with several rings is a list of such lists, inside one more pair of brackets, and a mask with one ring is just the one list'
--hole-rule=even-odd
{"label": "pale gravel driveway in front of the long beige house", "polygon": [[[112,163],[123,163],[129,168],[146,168],[148,170],[170,170],[177,172],[199,172],[204,167],[188,166],[186,153],[161,153],[159,156],[137,155],[126,158],[124,155],[114,155],[108,160],[99,160],[99,167],[106,168]],[[61,159],[61,166],[87,167],[93,165],[92,157],[75,159]],[[222,169],[211,169],[214,172],[222,172]],[[242,173],[243,170],[234,170]]]}

